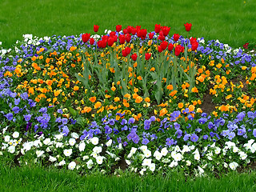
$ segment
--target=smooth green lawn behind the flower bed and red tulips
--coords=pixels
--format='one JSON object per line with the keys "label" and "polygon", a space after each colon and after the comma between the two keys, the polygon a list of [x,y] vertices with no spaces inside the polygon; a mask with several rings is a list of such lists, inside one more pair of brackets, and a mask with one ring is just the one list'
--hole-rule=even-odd
{"label": "smooth green lawn behind the flower bed and red tulips", "polygon": [[[246,0],[245,0],[246,1]],[[0,41],[10,47],[22,34],[39,37],[114,30],[115,26],[136,26],[154,30],[154,24],[170,26],[170,34],[186,35],[183,24],[192,23],[190,35],[206,40],[219,39],[230,46],[256,44],[256,1],[63,1],[1,0]]]}

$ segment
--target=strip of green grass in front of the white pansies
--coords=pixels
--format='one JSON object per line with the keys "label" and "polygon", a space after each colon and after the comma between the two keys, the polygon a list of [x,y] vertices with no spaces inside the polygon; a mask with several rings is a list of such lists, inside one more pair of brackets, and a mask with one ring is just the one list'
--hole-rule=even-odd
{"label": "strip of green grass in front of the white pansies", "polygon": [[0,191],[255,191],[256,172],[230,172],[221,178],[185,178],[182,173],[80,176],[69,170],[41,166],[0,166]]}

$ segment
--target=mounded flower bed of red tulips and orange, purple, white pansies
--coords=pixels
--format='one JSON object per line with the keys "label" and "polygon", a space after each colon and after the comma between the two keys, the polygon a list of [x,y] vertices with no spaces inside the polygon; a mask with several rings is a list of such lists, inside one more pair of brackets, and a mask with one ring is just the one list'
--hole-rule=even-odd
{"label": "mounded flower bed of red tulips and orange, purple, white pansies", "polygon": [[203,174],[254,162],[254,50],[155,25],[24,35],[0,54],[0,154],[18,165]]}

